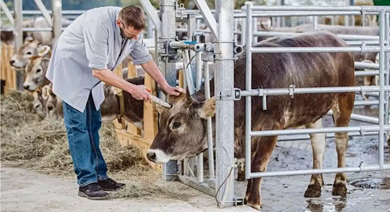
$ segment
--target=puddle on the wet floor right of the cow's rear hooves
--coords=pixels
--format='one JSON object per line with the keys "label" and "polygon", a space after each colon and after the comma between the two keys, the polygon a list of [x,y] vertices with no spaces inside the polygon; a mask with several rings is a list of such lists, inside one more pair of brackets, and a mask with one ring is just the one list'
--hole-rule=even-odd
{"label": "puddle on the wet floor right of the cow's rear hooves", "polygon": [[365,189],[390,189],[390,177],[363,177],[363,178],[350,178],[347,183],[351,186],[365,188]]}

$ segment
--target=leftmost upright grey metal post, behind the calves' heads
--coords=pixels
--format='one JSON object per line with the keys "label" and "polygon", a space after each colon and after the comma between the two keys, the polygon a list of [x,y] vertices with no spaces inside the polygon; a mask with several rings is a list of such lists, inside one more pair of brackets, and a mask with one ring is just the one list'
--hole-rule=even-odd
{"label": "leftmost upright grey metal post, behind the calves' heads", "polygon": [[[23,16],[22,16],[22,0],[14,0],[14,35],[15,35],[15,52],[23,45]],[[16,89],[23,91],[24,71],[16,72]]]}

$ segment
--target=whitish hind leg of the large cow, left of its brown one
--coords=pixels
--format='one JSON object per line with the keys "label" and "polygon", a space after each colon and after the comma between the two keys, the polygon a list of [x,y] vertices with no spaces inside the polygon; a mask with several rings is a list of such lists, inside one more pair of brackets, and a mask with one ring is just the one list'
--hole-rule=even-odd
{"label": "whitish hind leg of the large cow, left of its brown one", "polygon": [[[322,118],[312,124],[305,125],[306,128],[321,128]],[[322,168],[325,152],[325,133],[310,134],[310,142],[313,150],[313,169]],[[306,189],[305,197],[321,196],[321,187],[324,185],[322,174],[314,174],[310,179],[309,186]]]}

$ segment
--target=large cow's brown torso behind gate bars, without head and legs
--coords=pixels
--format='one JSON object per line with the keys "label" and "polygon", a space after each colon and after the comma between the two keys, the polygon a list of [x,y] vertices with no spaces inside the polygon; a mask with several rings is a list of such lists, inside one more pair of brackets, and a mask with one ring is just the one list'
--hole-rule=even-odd
{"label": "large cow's brown torso behind gate bars, without head and legs", "polygon": [[[346,47],[346,42],[325,30],[296,37],[272,38],[254,47]],[[234,87],[245,90],[245,52],[234,64]],[[252,53],[252,89],[355,86],[353,53]],[[213,85],[213,82],[211,82]],[[212,88],[211,91],[214,89]],[[277,119],[283,128],[317,120],[332,107],[337,93],[267,96],[252,98],[253,126]],[[236,124],[245,120],[245,100],[235,102]],[[290,126],[294,122],[294,126]]]}

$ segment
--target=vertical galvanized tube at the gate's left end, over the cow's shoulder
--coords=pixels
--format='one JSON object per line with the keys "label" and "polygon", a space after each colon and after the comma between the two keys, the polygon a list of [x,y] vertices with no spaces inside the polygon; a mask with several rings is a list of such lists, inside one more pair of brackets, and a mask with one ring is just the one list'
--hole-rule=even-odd
{"label": "vertical galvanized tube at the gate's left end, over the cow's shoulder", "polygon": [[[245,62],[245,89],[252,89],[252,7],[253,2],[245,2],[246,7],[246,62]],[[245,97],[245,179],[249,179],[251,173],[251,147],[252,138],[252,97]]]}

